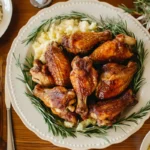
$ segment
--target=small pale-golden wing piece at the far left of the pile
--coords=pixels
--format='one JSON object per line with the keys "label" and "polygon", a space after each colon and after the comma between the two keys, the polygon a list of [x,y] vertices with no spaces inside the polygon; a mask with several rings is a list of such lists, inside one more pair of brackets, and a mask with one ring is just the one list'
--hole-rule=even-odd
{"label": "small pale-golden wing piece at the far left of the pile", "polygon": [[54,80],[48,71],[48,66],[43,65],[40,60],[34,60],[33,67],[30,69],[32,80],[42,86],[54,86]]}

